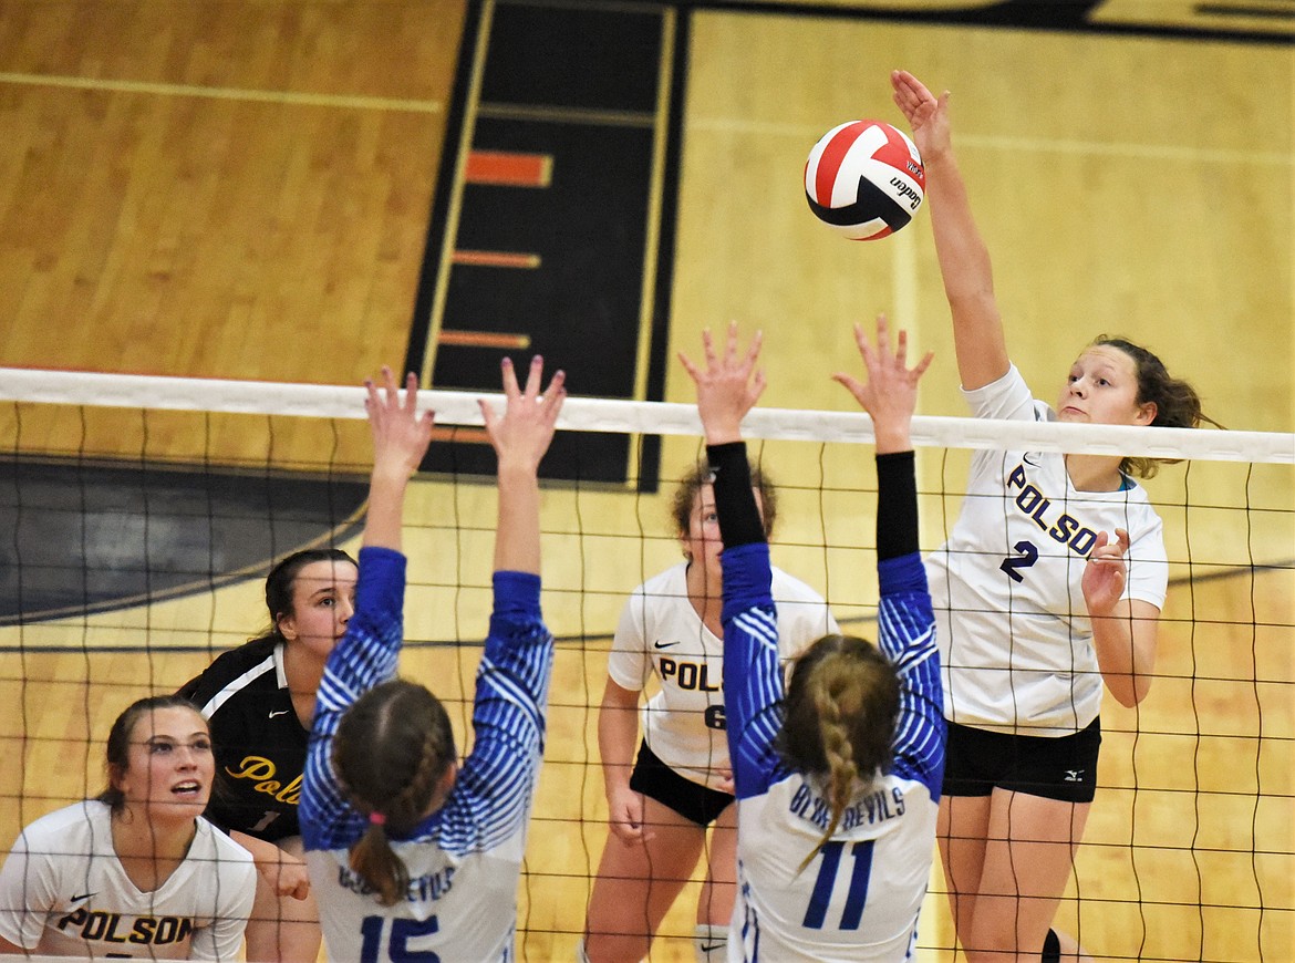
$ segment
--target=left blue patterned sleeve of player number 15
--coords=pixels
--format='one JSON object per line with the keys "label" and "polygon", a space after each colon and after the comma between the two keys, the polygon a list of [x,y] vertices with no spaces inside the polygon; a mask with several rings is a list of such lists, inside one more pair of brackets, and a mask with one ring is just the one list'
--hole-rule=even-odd
{"label": "left blue patterned sleeve of player number 15", "polygon": [[315,698],[299,809],[307,849],[348,845],[363,831],[363,821],[333,775],[333,736],[356,699],[396,674],[404,637],[405,557],[391,549],[364,548],[359,562],[355,615],[328,658]]}

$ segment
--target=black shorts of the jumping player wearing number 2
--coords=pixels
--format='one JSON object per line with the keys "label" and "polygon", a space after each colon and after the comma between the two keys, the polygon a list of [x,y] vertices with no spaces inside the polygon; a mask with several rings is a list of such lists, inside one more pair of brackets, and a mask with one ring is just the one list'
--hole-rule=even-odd
{"label": "black shorts of the jumping player wearing number 2", "polygon": [[988,796],[996,788],[1063,802],[1092,802],[1102,722],[1074,735],[1011,735],[949,722],[944,795]]}

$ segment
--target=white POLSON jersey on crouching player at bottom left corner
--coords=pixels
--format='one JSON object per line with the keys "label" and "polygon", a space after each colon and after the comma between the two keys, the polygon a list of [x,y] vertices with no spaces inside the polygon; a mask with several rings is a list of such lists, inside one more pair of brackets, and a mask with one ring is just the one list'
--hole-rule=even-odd
{"label": "white POLSON jersey on crouching player at bottom left corner", "polygon": [[237,960],[256,896],[251,854],[206,819],[158,889],[113,849],[111,810],[87,800],[36,819],[0,870],[0,936],[82,959]]}

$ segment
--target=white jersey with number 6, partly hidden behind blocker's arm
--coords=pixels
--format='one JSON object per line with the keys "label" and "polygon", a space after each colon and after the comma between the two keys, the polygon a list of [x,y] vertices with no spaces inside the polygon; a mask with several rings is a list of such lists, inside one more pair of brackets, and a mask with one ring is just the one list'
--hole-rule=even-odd
{"label": "white jersey with number 6, partly hidden behind blocker's arm", "polygon": [[[622,689],[641,691],[651,674],[660,690],[640,711],[644,740],[686,779],[720,788],[729,768],[721,690],[724,642],[688,599],[688,563],[649,579],[629,597],[607,658],[607,674]],[[815,639],[840,632],[822,595],[773,570],[782,659]]]}

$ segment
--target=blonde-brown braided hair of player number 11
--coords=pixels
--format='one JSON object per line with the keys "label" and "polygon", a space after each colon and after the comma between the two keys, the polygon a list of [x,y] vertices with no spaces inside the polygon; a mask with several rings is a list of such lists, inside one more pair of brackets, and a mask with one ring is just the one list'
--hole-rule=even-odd
{"label": "blonde-brown braided hair of player number 11", "polygon": [[783,761],[822,786],[830,822],[800,869],[840,826],[850,801],[891,761],[899,678],[877,648],[855,636],[824,636],[796,659],[778,734]]}

